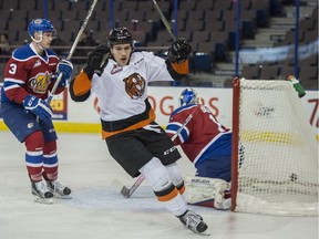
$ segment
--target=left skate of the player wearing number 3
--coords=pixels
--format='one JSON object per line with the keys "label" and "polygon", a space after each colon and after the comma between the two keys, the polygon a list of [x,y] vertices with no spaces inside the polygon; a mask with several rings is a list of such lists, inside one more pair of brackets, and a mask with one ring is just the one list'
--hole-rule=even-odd
{"label": "left skate of the player wearing number 3", "polygon": [[52,204],[53,194],[48,189],[45,181],[32,181],[31,180],[31,193],[35,196],[35,201],[41,204]]}

